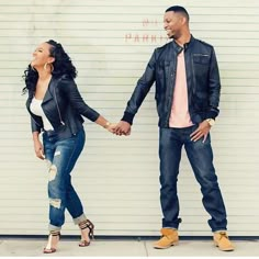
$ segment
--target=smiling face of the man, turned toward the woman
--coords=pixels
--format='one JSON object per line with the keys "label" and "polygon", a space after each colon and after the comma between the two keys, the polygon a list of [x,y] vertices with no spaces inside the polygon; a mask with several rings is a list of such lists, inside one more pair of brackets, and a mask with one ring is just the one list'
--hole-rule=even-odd
{"label": "smiling face of the man, turned toward the woman", "polygon": [[167,31],[169,38],[177,40],[181,35],[183,16],[173,11],[166,12],[164,15],[164,29]]}

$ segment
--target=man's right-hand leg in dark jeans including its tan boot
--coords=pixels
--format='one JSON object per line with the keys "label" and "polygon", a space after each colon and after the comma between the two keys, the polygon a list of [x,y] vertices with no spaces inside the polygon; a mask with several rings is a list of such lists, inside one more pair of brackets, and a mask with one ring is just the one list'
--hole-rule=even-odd
{"label": "man's right-hand leg in dark jeans including its tan boot", "polygon": [[205,142],[203,142],[203,138],[196,142],[192,142],[189,138],[184,143],[184,146],[195,178],[201,185],[203,205],[211,215],[209,225],[212,232],[215,233],[215,245],[218,246],[221,250],[234,250],[225,232],[227,229],[226,210],[213,166],[210,134]]}

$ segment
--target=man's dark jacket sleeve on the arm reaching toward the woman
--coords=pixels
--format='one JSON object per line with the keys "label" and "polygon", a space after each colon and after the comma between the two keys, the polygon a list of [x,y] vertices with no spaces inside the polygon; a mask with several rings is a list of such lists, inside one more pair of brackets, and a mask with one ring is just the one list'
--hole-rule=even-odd
{"label": "man's dark jacket sleeve on the arm reaching toward the woman", "polygon": [[146,70],[143,76],[138,79],[137,85],[132,93],[131,99],[127,102],[127,106],[124,111],[122,121],[133,124],[133,119],[136,115],[139,106],[149,92],[156,75],[156,49],[153,53],[150,60],[147,64]]}

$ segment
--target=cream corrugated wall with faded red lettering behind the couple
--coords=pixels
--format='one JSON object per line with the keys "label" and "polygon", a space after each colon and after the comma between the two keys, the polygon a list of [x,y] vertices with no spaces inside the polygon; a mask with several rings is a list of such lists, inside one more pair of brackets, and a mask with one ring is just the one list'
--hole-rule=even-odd
{"label": "cream corrugated wall with faded red lettering behind the couple", "polygon": [[[259,1],[0,0],[0,235],[47,233],[47,171],[35,158],[22,75],[37,44],[60,42],[89,105],[117,122],[153,53],[166,43],[166,8],[184,5],[195,37],[215,46],[221,115],[212,130],[215,167],[232,236],[259,236]],[[159,161],[154,90],[130,137],[86,122],[74,184],[97,235],[159,235]],[[185,159],[179,178],[182,236],[211,235]],[[70,216],[63,234],[77,235]]]}

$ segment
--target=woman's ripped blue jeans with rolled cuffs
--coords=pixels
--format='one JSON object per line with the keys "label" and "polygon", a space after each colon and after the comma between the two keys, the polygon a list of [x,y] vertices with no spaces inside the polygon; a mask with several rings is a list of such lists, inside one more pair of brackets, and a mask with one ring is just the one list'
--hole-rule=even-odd
{"label": "woman's ripped blue jeans with rolled cuffs", "polygon": [[49,166],[49,230],[61,229],[66,209],[75,224],[86,219],[81,201],[71,184],[70,176],[85,142],[83,130],[67,139],[58,139],[58,135],[55,133],[43,133],[45,159]]}

